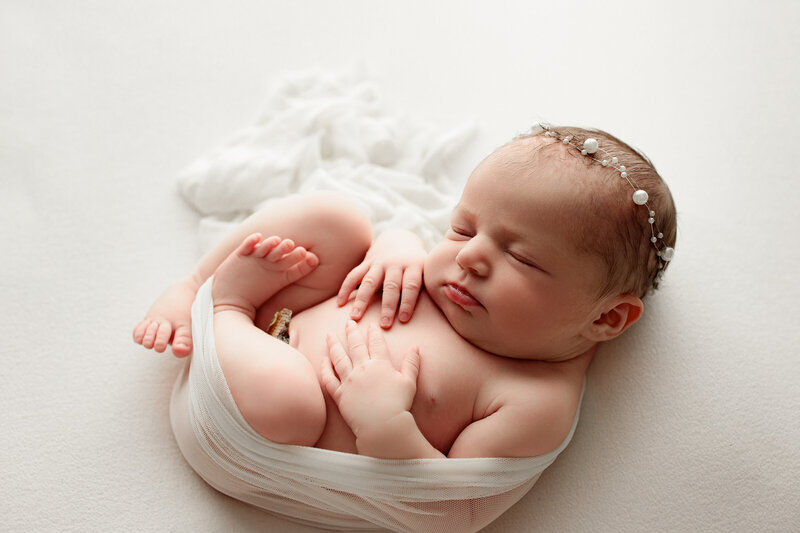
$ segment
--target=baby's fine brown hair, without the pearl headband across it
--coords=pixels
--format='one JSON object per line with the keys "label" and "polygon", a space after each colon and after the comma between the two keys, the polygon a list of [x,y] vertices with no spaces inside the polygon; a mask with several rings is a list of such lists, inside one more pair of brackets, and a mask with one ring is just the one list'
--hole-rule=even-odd
{"label": "baby's fine brown hair, without the pearl headband across it", "polygon": [[[573,126],[549,126],[561,136],[569,136],[578,146],[586,139],[597,140],[604,151],[618,158],[624,165],[627,175],[635,179],[637,186],[647,192],[649,210],[655,211],[658,231],[663,234],[661,241],[665,246],[675,247],[677,237],[677,216],[675,202],[669,188],[656,171],[647,156],[639,150],[602,130],[578,128]],[[600,165],[591,157],[582,155],[573,145],[566,145],[545,135],[547,130],[535,126],[527,133],[517,136],[511,144],[520,139],[541,137],[533,149],[535,157],[570,157],[580,159],[579,168],[586,168],[592,176],[580,177],[589,191],[594,194],[585,199],[585,207],[592,221],[581,224],[581,235],[576,244],[579,248],[599,256],[606,268],[605,282],[600,287],[597,299],[612,294],[630,293],[644,297],[650,290],[658,289],[663,271],[669,261],[660,260],[658,250],[651,243],[651,224],[648,222],[649,210],[636,205],[631,200],[631,187],[620,179],[614,168]],[[661,274],[661,275],[659,275]]]}

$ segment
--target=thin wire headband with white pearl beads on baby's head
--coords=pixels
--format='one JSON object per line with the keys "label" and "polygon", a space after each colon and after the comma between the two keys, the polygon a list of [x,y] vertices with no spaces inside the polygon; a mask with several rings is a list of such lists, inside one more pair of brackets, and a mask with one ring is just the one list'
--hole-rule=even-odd
{"label": "thin wire headband with white pearl beads on baby's head", "polygon": [[[589,137],[585,141],[583,141],[581,145],[578,145],[578,143],[572,141],[571,135],[562,136],[559,132],[553,130],[549,124],[539,123],[539,127],[544,130],[545,136],[556,138],[566,145],[577,148],[582,155],[590,157],[591,159],[597,161],[604,167],[611,167],[616,169],[619,172],[620,177],[624,179],[626,182],[628,182],[628,185],[630,185],[631,188],[633,189],[633,203],[636,205],[643,205],[644,207],[647,208],[647,211],[649,212],[649,217],[647,219],[647,222],[650,224],[650,242],[656,249],[656,256],[658,257],[659,272],[656,275],[655,279],[655,284],[658,284],[658,282],[661,281],[661,276],[664,274],[663,269],[665,263],[672,260],[672,258],[675,256],[675,250],[672,247],[666,245],[666,243],[663,240],[664,234],[661,233],[658,230],[658,226],[656,226],[656,219],[655,219],[656,212],[653,211],[650,208],[650,205],[647,203],[647,201],[650,198],[647,192],[639,188],[639,186],[636,184],[636,181],[628,175],[625,165],[620,165],[619,159],[615,155],[610,154],[609,152],[600,148],[600,146],[597,143],[597,139]],[[531,133],[529,133],[528,135],[532,133],[533,131],[531,131]],[[602,153],[603,155],[602,159],[598,158],[595,155],[598,152]]]}

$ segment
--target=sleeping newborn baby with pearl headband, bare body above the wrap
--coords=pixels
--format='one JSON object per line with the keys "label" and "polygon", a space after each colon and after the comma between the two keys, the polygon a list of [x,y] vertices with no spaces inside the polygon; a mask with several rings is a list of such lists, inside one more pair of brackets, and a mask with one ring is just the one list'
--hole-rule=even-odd
{"label": "sleeping newborn baby with pearl headband, bare body above the wrap", "polygon": [[[541,126],[478,165],[430,253],[402,231],[372,242],[345,198],[287,198],[169,288],[133,337],[191,353],[192,300],[213,275],[219,363],[263,437],[381,458],[534,457],[567,436],[597,345],[641,317],[675,238],[646,158],[601,131]],[[284,308],[288,342],[265,331]]]}

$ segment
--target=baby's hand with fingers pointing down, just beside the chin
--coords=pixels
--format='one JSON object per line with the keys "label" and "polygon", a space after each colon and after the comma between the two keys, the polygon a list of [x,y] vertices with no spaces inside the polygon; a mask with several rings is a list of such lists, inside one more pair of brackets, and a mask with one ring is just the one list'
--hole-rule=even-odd
{"label": "baby's hand with fingers pointing down, just beside the chin", "polygon": [[422,289],[422,266],[426,256],[422,241],[413,233],[382,233],[375,239],[364,261],[351,270],[342,282],[337,303],[340,307],[346,304],[350,294],[360,283],[350,312],[350,318],[360,320],[372,296],[383,286],[381,327],[392,326],[395,313],[398,312],[398,302],[398,319],[400,322],[408,322]]}

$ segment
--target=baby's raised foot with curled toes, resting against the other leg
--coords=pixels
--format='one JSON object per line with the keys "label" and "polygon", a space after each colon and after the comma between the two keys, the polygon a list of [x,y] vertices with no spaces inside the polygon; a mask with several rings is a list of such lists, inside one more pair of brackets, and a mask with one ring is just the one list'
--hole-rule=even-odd
{"label": "baby's raised foot with curled toes, resting against the other leg", "polygon": [[290,239],[247,237],[214,272],[214,312],[239,311],[251,319],[282,288],[313,271],[319,259]]}

